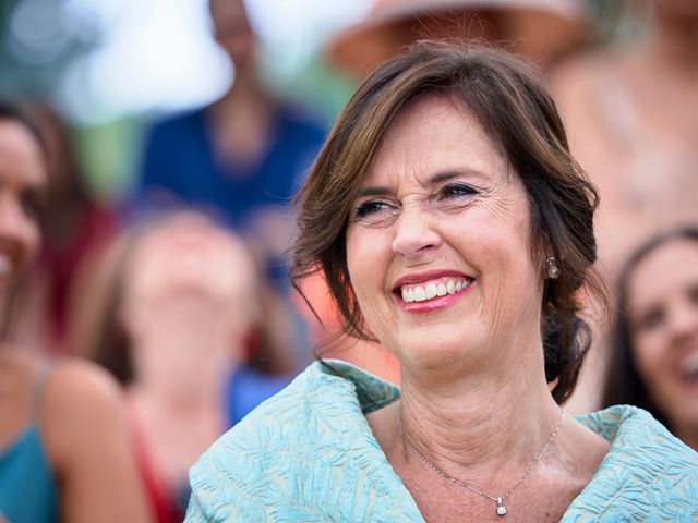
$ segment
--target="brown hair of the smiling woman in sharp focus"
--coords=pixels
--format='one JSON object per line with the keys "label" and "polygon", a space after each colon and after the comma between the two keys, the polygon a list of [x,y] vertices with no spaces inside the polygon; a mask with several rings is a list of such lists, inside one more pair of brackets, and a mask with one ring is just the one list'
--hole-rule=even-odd
{"label": "brown hair of the smiling woman in sharp focus", "polygon": [[299,194],[291,278],[298,288],[305,276],[323,271],[344,332],[373,339],[349,281],[347,221],[385,132],[398,113],[426,96],[448,98],[473,114],[526,186],[533,259],[541,253],[553,255],[561,271],[559,278],[545,281],[541,330],[545,375],[555,382],[555,400],[563,402],[574,390],[590,344],[577,291],[587,284],[603,296],[592,269],[598,196],[569,154],[562,121],[539,75],[510,53],[462,42],[420,41],[363,82]]}

